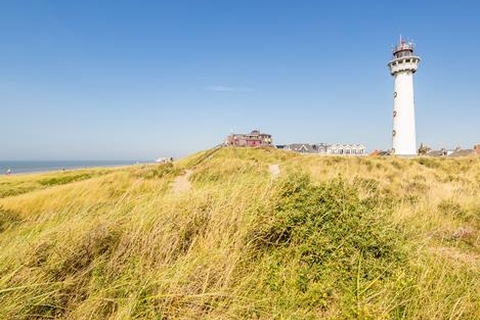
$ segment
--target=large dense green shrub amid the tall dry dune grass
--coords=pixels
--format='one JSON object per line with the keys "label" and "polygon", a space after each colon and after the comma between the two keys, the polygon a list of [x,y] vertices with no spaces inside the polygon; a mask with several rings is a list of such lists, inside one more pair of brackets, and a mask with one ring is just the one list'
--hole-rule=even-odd
{"label": "large dense green shrub amid the tall dry dune grass", "polygon": [[[254,256],[268,261],[261,264],[268,291],[290,296],[288,303],[297,295],[296,307],[304,309],[325,308],[341,296],[347,310],[360,304],[360,291],[368,293],[364,285],[395,281],[406,260],[403,236],[378,207],[378,194],[361,199],[359,191],[342,178],[313,185],[300,175],[282,182],[273,212],[260,213],[249,235]],[[285,281],[292,264],[295,280]],[[360,313],[354,308],[350,315]]]}

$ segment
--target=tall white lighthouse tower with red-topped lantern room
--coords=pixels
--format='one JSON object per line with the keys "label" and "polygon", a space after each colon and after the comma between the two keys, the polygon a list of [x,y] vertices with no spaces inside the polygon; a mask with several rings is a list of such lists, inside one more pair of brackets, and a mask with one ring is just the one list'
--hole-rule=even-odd
{"label": "tall white lighthouse tower with red-topped lantern room", "polygon": [[413,43],[400,37],[400,42],[393,48],[393,60],[388,63],[390,74],[395,77],[392,153],[401,156],[417,154],[413,74],[418,69],[420,57],[415,56],[413,50]]}

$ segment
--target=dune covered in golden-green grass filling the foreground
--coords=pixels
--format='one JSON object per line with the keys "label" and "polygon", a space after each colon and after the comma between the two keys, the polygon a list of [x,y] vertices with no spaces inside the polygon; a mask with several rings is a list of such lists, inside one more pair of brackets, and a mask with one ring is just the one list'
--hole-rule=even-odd
{"label": "dune covered in golden-green grass filling the foreground", "polygon": [[0,177],[0,318],[479,319],[479,236],[479,157]]}

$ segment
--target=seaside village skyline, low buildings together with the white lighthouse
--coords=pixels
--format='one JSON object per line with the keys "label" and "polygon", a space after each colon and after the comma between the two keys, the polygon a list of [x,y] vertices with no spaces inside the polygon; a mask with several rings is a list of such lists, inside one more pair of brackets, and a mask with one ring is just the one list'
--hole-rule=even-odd
{"label": "seaside village skyline, low buildings together with the white lighthouse", "polygon": [[[392,59],[387,66],[390,75],[395,78],[393,92],[393,130],[392,148],[388,151],[374,150],[370,155],[398,155],[398,156],[432,156],[458,157],[480,155],[480,144],[472,149],[433,150],[421,144],[417,149],[415,132],[415,103],[413,90],[413,75],[417,72],[420,57],[415,55],[415,45],[411,41],[400,37],[392,50]],[[275,147],[299,153],[318,155],[363,156],[366,148],[363,144],[342,143],[293,143],[289,145],[274,145],[272,135],[253,130],[247,134],[232,133],[225,140],[224,146],[235,147]]]}

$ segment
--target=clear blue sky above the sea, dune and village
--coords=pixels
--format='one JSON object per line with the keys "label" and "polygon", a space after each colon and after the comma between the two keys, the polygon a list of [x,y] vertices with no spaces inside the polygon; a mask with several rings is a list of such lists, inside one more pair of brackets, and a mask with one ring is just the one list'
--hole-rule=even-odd
{"label": "clear blue sky above the sea, dune and village", "polygon": [[480,143],[480,2],[0,2],[0,160],[182,157],[253,129],[391,148],[391,47],[417,144]]}

